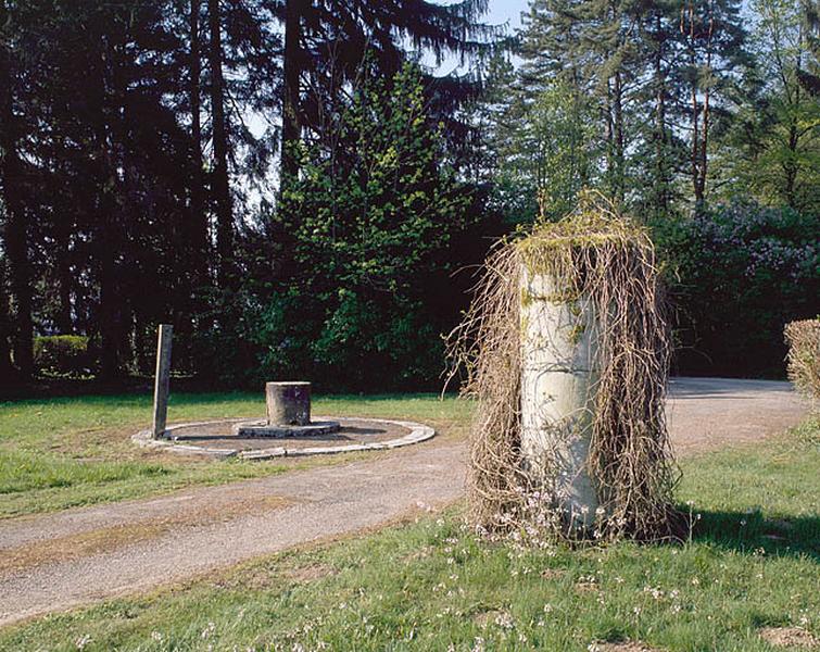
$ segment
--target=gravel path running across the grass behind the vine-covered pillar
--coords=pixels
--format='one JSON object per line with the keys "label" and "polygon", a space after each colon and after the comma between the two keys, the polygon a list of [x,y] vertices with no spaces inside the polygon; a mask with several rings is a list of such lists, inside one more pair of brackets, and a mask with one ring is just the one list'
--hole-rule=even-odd
{"label": "gravel path running across the grass behind the vine-covered pillar", "polygon": [[[680,378],[681,455],[761,439],[804,408],[785,383]],[[0,625],[374,527],[464,490],[463,442],[154,499],[0,522]]]}

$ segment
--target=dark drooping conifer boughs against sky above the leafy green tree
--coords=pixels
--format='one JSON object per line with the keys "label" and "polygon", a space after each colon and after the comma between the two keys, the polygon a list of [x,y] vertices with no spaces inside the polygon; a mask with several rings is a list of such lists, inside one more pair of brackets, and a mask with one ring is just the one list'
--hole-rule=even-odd
{"label": "dark drooping conifer boughs against sky above the leafy green tree", "polygon": [[[332,105],[333,96],[355,79],[365,52],[381,74],[391,76],[407,59],[408,43],[438,60],[446,54],[464,59],[488,51],[501,36],[501,30],[479,22],[487,0],[446,5],[426,0],[283,1],[282,184],[295,178],[291,152],[303,129],[319,126],[327,109],[323,104]],[[469,84],[450,82],[434,86],[439,97],[433,99],[451,108],[454,95],[465,97],[475,90]]]}

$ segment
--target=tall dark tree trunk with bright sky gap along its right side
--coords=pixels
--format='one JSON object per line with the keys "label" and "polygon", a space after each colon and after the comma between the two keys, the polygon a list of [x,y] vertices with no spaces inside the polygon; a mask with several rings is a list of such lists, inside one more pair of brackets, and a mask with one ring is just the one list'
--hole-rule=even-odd
{"label": "tall dark tree trunk with bright sky gap along its right side", "polygon": [[230,284],[234,268],[234,210],[228,180],[228,136],[225,122],[225,79],[223,77],[222,21],[219,0],[209,0],[211,32],[211,120],[214,133],[213,195],[216,204],[216,249],[219,285]]}

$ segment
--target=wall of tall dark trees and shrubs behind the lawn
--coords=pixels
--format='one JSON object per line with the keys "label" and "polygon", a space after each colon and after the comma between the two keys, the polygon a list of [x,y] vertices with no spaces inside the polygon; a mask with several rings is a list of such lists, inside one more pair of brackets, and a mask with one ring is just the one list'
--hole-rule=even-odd
{"label": "wall of tall dark trees and shrubs behind the lawn", "polygon": [[0,0],[0,378],[150,375],[172,323],[198,386],[436,389],[493,239],[585,188],[653,228],[677,373],[782,377],[817,0],[487,4]]}

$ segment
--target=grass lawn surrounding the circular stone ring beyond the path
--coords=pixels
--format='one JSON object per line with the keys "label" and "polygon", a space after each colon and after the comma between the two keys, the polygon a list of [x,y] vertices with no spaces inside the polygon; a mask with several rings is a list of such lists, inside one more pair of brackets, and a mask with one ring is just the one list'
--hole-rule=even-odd
{"label": "grass lawn surrounding the circular stone ring beyond the path", "polygon": [[[421,421],[447,436],[463,431],[469,405],[433,394],[319,397],[315,414]],[[265,413],[262,392],[172,394],[171,422]],[[333,464],[351,455],[249,462],[205,461],[139,449],[130,436],[150,426],[151,397],[79,397],[0,403],[0,518],[139,498]]]}

